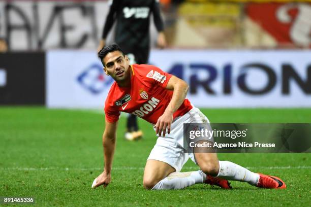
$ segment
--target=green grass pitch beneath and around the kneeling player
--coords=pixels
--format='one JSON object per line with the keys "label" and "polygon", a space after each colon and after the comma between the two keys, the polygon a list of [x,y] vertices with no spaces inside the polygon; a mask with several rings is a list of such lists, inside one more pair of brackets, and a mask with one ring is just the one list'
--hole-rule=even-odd
{"label": "green grass pitch beneath and around the kneeling player", "polygon": [[[204,109],[211,122],[311,122],[311,109]],[[112,182],[91,189],[103,168],[104,116],[94,111],[0,108],[0,196],[34,197],[37,206],[310,206],[311,154],[219,154],[251,170],[281,177],[286,190],[231,182],[233,190],[194,185],[147,191],[143,168],[155,144],[151,125],[139,121],[144,139],[123,139],[119,121]],[[191,161],[183,171],[197,170]]]}

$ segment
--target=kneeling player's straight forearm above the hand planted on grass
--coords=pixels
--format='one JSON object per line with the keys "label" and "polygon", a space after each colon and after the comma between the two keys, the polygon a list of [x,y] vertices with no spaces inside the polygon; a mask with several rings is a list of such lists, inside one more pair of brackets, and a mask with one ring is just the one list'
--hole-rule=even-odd
{"label": "kneeling player's straight forearm above the hand planted on grass", "polygon": [[112,161],[115,149],[115,136],[108,136],[103,134],[103,148],[104,148],[104,171],[110,174],[112,168]]}

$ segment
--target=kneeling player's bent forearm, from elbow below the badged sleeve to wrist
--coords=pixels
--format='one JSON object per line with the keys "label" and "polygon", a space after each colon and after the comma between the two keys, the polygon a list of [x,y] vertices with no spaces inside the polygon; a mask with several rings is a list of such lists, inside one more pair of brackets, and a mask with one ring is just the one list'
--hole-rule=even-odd
{"label": "kneeling player's bent forearm, from elbow below the badged sleeve to wrist", "polygon": [[184,101],[187,93],[188,93],[189,86],[184,81],[178,81],[174,85],[173,89],[173,96],[172,99],[167,106],[165,112],[174,114],[177,109],[181,106],[182,102]]}

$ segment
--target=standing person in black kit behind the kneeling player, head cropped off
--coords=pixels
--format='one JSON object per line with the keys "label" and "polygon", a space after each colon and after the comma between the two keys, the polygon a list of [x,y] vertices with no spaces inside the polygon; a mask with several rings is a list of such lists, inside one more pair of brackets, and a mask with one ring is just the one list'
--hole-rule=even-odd
{"label": "standing person in black kit behind the kneeling player, head cropped off", "polygon": [[[106,45],[106,37],[116,21],[115,43],[122,46],[122,50],[130,59],[130,64],[147,64],[150,51],[151,14],[159,32],[158,46],[164,48],[166,39],[159,0],[113,0],[110,1],[110,9],[98,51]],[[127,140],[136,140],[142,136],[135,115],[131,114],[128,117],[125,136]]]}

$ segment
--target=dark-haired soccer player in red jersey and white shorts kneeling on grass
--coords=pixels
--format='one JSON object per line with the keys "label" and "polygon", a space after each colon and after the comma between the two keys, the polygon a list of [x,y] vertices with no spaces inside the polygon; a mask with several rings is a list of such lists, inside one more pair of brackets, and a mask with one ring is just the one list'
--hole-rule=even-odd
{"label": "dark-haired soccer player in red jersey and white shorts kneeling on grass", "polygon": [[[185,99],[188,85],[158,67],[130,65],[129,58],[117,45],[105,46],[99,57],[105,73],[115,82],[105,102],[104,171],[92,187],[107,186],[111,181],[117,122],[120,112],[127,112],[154,124],[159,135],[144,170],[143,186],[146,189],[181,189],[197,183],[230,188],[227,180],[261,188],[286,188],[277,177],[257,174],[229,161],[219,161],[215,153],[183,153],[183,123],[209,122]],[[200,170],[179,172],[189,158]]]}

